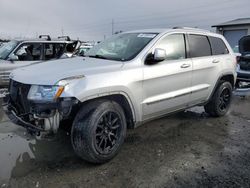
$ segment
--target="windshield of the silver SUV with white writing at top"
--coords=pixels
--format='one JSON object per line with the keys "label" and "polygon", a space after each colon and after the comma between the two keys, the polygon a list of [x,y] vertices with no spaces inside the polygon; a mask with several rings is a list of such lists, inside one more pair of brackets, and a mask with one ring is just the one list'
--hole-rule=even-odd
{"label": "windshield of the silver SUV with white writing at top", "polygon": [[138,55],[157,33],[125,33],[115,35],[94,46],[85,56],[117,61],[129,61]]}

